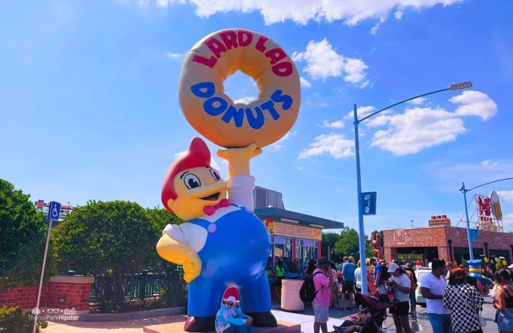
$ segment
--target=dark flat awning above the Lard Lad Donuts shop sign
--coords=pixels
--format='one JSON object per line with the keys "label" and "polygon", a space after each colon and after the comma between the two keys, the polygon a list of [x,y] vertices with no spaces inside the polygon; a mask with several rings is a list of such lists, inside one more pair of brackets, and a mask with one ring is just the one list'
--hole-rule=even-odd
{"label": "dark flat awning above the Lard Lad Donuts shop sign", "polygon": [[[288,211],[285,209],[269,207],[269,208],[256,208],[255,215],[258,217],[270,218],[275,221],[297,221],[300,225],[322,227],[323,229],[342,229],[344,224],[341,222],[329,220],[326,218],[315,217],[311,215],[301,214],[297,212]],[[289,220],[289,221],[287,221]]]}

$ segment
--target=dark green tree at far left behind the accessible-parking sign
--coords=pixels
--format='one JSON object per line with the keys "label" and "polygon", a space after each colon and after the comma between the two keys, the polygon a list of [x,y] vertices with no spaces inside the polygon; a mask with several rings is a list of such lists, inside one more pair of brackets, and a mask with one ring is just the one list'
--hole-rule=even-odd
{"label": "dark green tree at far left behind the accessible-parking sign", "polygon": [[[30,195],[0,179],[0,286],[38,285],[48,225],[37,212]],[[51,244],[44,282],[56,273]]]}

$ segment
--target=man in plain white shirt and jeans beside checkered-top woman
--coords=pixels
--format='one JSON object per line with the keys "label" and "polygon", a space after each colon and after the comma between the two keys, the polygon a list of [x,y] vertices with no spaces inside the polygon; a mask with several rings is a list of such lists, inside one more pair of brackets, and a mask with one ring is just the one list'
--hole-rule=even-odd
{"label": "man in plain white shirt and jeans beside checkered-top woman", "polygon": [[452,333],[450,311],[442,304],[445,287],[445,261],[435,259],[431,263],[431,273],[422,278],[420,291],[426,299],[427,314],[433,332],[437,333]]}

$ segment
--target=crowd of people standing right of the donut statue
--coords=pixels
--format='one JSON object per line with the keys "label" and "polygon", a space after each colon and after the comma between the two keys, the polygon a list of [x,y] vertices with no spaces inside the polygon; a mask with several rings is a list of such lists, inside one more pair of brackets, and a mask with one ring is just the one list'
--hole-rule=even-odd
{"label": "crowd of people standing right of the donut statue", "polygon": [[[415,317],[416,290],[418,281],[411,264],[399,265],[397,260],[387,264],[370,258],[366,263],[373,267],[373,284],[376,297],[390,302],[389,313],[398,333],[410,333],[409,316]],[[435,259],[429,264],[431,271],[421,281],[420,294],[426,300],[426,312],[433,332],[437,333],[482,333],[486,325],[480,316],[484,305],[485,288],[476,278],[469,275],[468,265],[459,266]],[[495,322],[500,333],[513,332],[513,265],[498,270],[494,275],[494,289],[491,291],[493,306],[497,309]],[[352,257],[344,257],[340,267],[341,278],[337,278],[337,269],[327,257],[319,261],[310,261],[305,276],[313,276],[315,299],[312,301],[314,312],[314,332],[328,331],[329,308],[338,310],[352,309],[353,295],[361,291],[361,263],[354,264]],[[365,270],[364,270],[365,271]],[[389,295],[393,296],[390,297]],[[344,308],[345,297],[349,306]],[[347,320],[340,327],[334,327],[337,333],[360,331],[369,314],[360,307],[357,317]]]}

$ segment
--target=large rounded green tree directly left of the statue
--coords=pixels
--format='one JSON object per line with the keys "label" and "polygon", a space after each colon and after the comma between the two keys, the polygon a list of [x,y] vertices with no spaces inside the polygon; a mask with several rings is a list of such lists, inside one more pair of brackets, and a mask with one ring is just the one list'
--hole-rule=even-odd
{"label": "large rounded green tree directly left of the statue", "polygon": [[126,294],[137,275],[154,262],[158,239],[144,208],[117,200],[89,201],[52,232],[61,269],[95,276],[100,285],[109,286],[105,291],[93,285],[101,312],[126,310]]}

